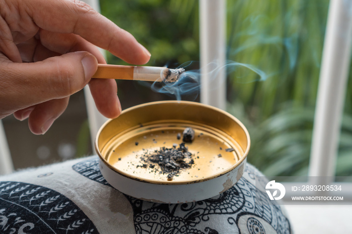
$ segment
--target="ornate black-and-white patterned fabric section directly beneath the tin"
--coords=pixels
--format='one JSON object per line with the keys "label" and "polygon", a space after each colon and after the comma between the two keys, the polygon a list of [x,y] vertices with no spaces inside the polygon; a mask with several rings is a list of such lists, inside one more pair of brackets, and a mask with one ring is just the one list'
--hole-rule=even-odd
{"label": "ornate black-and-white patterned fabric section directly beneath the tin", "polygon": [[[81,161],[72,168],[85,177],[110,186],[98,159]],[[243,177],[224,193],[203,201],[161,204],[130,196],[136,233],[291,233],[289,220],[276,201],[253,185],[262,176],[248,165]]]}

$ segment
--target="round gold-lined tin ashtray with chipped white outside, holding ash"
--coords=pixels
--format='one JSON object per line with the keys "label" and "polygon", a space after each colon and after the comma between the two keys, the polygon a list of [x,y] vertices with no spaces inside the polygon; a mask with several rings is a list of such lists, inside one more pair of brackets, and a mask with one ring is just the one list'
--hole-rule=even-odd
{"label": "round gold-lined tin ashtray with chipped white outside, holding ash", "polygon": [[[194,138],[184,142],[186,129]],[[250,140],[226,111],[192,101],[157,101],[108,120],[95,147],[102,175],[117,190],[152,202],[184,203],[231,188],[243,174]]]}

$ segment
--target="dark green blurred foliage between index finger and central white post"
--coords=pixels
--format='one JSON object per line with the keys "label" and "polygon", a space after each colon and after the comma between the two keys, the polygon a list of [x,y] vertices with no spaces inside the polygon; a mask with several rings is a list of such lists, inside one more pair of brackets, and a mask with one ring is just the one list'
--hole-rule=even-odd
{"label": "dark green blurred foliage between index finger and central white post", "polygon": [[[198,1],[101,0],[104,16],[130,32],[152,54],[148,65],[199,60]],[[109,63],[125,64],[113,55]]]}

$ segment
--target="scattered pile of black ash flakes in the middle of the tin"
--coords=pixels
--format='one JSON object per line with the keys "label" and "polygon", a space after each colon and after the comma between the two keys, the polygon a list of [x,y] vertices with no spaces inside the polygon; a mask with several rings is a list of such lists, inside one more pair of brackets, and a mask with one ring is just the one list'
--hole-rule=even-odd
{"label": "scattered pile of black ash flakes in the middle of the tin", "polygon": [[137,167],[151,168],[160,174],[167,174],[167,180],[171,181],[174,176],[178,176],[182,170],[191,168],[194,164],[195,155],[188,151],[185,143],[181,143],[179,148],[173,145],[172,148],[161,147],[152,153],[145,152],[140,157],[142,165]]}

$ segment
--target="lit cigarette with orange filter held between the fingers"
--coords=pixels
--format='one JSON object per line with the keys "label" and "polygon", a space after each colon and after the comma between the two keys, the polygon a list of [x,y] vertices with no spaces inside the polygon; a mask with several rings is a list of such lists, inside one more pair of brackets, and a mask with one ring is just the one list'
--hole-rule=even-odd
{"label": "lit cigarette with orange filter held between the fingers", "polygon": [[175,82],[184,71],[184,68],[98,64],[92,78]]}

